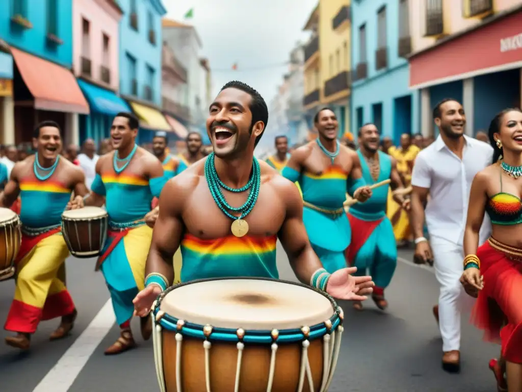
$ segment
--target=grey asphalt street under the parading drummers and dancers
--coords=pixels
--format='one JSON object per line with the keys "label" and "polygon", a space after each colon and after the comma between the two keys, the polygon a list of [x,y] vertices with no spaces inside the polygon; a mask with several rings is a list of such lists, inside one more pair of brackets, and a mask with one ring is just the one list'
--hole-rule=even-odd
{"label": "grey asphalt street under the parading drummers and dancers", "polygon": [[[429,267],[411,264],[411,251],[399,255],[404,260],[386,292],[390,303],[386,312],[371,300],[363,312],[340,303],[345,333],[330,392],[494,392],[488,361],[500,349],[481,340],[468,316],[462,322],[460,374],[441,369],[442,343],[432,315],[438,296],[435,275]],[[278,264],[281,279],[295,280],[281,248]],[[137,320],[133,329],[139,347],[117,356],[103,355],[117,339],[118,328],[103,277],[94,272],[94,260],[69,258],[67,283],[79,312],[72,336],[50,342],[59,322],[52,320],[42,322],[29,352],[0,344],[0,391],[158,391],[152,342],[140,340]],[[2,322],[13,293],[13,281],[0,283]]]}

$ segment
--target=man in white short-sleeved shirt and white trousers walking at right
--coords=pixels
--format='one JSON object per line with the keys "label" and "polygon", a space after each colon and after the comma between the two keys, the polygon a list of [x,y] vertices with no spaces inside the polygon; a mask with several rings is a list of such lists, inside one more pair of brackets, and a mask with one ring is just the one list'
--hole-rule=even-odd
{"label": "man in white short-sleeved shirt and white trousers walking at right", "polygon": [[[462,105],[454,99],[438,103],[433,110],[433,120],[440,134],[434,143],[417,155],[413,166],[412,226],[416,258],[434,261],[435,276],[441,287],[438,310],[435,307],[434,313],[438,317],[443,341],[442,367],[448,372],[458,372],[460,311],[463,301],[472,301],[464,294],[459,282],[464,268],[462,240],[469,191],[477,172],[492,164],[493,148],[464,135],[466,115]],[[428,205],[424,211],[426,201]],[[423,236],[424,217],[431,248]],[[481,244],[490,232],[491,223],[486,216],[480,232]]]}

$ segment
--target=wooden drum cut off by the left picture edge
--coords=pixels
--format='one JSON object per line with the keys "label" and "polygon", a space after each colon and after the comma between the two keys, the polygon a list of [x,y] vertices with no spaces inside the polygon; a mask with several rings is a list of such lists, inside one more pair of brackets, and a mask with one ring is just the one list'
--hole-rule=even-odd
{"label": "wooden drum cut off by the left picture edge", "polygon": [[21,241],[20,218],[14,211],[0,207],[0,281],[15,274],[15,260]]}

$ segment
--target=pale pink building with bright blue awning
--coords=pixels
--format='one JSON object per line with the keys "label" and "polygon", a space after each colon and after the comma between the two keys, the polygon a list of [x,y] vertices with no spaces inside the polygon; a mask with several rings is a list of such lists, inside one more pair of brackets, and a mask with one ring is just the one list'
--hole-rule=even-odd
{"label": "pale pink building with bright blue awning", "polygon": [[73,69],[90,106],[89,116],[78,117],[78,142],[102,141],[115,114],[131,111],[117,95],[122,14],[114,0],[73,0]]}

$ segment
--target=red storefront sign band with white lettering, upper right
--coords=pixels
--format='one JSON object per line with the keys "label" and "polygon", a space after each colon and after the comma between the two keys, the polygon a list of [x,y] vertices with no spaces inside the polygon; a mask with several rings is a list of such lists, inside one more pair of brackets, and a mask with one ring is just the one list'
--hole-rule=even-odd
{"label": "red storefront sign band with white lettering, upper right", "polygon": [[411,88],[522,67],[522,11],[413,54],[409,63]]}

